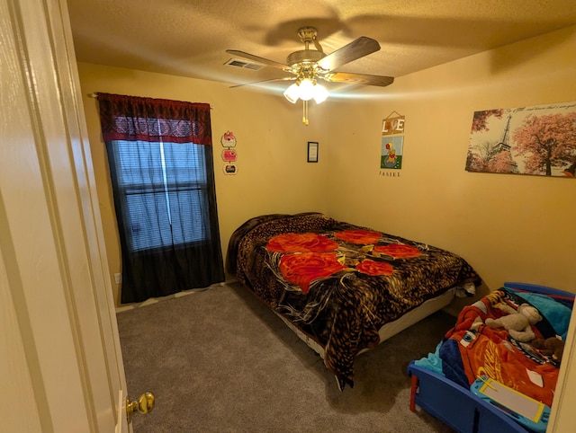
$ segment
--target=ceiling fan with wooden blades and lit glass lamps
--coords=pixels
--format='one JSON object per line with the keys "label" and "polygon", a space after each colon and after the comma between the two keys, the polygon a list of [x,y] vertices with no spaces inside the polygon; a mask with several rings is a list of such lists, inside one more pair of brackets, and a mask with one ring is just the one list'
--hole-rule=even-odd
{"label": "ceiling fan with wooden blades and lit glass lamps", "polygon": [[[329,83],[354,83],[365,85],[386,86],[392,84],[392,76],[354,74],[348,72],[336,72],[340,66],[346,65],[360,57],[365,57],[380,49],[378,41],[365,36],[353,40],[344,47],[326,54],[317,40],[318,31],[314,27],[302,27],[298,30],[298,36],[304,44],[304,49],[294,51],[286,58],[286,63],[276,62],[264,57],[258,57],[244,51],[236,49],[227,49],[226,52],[238,57],[244,57],[254,60],[266,66],[273,66],[282,69],[284,72],[292,74],[284,78],[273,78],[270,80],[259,81],[259,84],[271,81],[295,81],[284,92],[284,97],[289,101],[296,103],[299,99],[304,102],[304,112],[302,122],[308,125],[308,102],[313,99],[316,103],[321,103],[328,98],[329,93],[319,80]],[[313,44],[315,49],[311,49]],[[238,84],[232,87],[238,87]]]}

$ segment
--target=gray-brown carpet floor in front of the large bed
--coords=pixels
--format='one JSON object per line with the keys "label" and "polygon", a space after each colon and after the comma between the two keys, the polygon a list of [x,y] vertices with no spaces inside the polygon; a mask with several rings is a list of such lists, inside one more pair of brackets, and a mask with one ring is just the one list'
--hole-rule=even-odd
{"label": "gray-brown carpet floor in front of the large bed", "polygon": [[434,350],[455,317],[438,312],[356,358],[338,391],[320,357],[238,285],[212,287],[118,315],[130,397],[156,407],[135,433],[451,432],[411,412],[411,359]]}

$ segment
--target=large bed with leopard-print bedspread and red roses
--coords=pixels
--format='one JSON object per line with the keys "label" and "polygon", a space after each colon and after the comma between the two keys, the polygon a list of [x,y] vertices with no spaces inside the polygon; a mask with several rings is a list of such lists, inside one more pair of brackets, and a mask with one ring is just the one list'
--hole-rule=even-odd
{"label": "large bed with leopard-print bedspread and red roses", "polygon": [[340,390],[354,386],[360,352],[481,282],[452,252],[317,212],[250,218],[226,270],[320,354]]}

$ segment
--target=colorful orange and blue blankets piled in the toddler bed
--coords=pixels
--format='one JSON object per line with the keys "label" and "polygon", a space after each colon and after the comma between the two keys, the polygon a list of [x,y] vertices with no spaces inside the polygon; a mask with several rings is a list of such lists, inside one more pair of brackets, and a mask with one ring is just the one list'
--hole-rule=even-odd
{"label": "colorful orange and blue blankets piled in the toddler bed", "polygon": [[[521,305],[526,304],[536,307],[539,317],[536,323],[528,324],[526,331],[512,331],[516,336],[513,338],[505,327],[498,325],[506,324],[506,318],[514,317],[518,308],[522,310]],[[478,376],[489,376],[550,406],[559,359],[536,349],[536,341],[556,336],[565,340],[571,313],[569,306],[549,296],[503,287],[464,307],[436,353],[419,359],[416,364],[465,388]]]}

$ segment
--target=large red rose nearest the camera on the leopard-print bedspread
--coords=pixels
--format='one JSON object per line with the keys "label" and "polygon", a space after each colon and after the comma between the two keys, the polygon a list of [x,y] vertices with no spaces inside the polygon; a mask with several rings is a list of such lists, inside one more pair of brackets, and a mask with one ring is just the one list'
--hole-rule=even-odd
{"label": "large red rose nearest the camera on the leopard-print bedspread", "polygon": [[344,269],[336,258],[336,252],[302,252],[286,254],[280,259],[283,277],[300,286],[304,294],[310,290],[313,279],[329,277]]}

